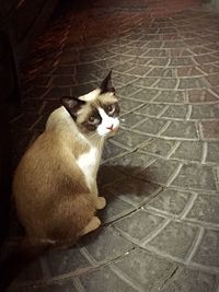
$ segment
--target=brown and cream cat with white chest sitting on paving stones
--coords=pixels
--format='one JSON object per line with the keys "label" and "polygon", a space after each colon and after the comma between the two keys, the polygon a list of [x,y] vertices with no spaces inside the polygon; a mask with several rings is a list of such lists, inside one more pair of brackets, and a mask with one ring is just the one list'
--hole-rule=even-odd
{"label": "brown and cream cat with white chest sitting on paving stones", "polygon": [[100,87],[62,97],[13,179],[19,219],[32,246],[69,247],[101,225],[96,174],[104,141],[119,126],[111,72]]}

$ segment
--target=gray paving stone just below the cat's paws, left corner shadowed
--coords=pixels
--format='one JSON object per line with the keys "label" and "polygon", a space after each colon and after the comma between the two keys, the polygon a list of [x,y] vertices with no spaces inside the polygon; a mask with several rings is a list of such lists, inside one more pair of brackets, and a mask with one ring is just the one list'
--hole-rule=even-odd
{"label": "gray paving stone just below the cat's paws, left corner shadowed", "polygon": [[113,260],[132,248],[130,242],[125,241],[112,227],[102,227],[88,234],[79,242],[97,262]]}

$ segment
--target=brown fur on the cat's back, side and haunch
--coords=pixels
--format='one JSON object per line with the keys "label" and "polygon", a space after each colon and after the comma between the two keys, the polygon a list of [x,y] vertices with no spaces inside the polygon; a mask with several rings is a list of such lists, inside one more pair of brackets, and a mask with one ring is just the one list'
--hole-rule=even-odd
{"label": "brown fur on the cat's back, side and haunch", "polygon": [[89,145],[73,137],[60,109],[51,115],[46,131],[24,154],[14,175],[18,214],[34,245],[72,244],[99,209],[96,194],[90,192],[76,163]]}

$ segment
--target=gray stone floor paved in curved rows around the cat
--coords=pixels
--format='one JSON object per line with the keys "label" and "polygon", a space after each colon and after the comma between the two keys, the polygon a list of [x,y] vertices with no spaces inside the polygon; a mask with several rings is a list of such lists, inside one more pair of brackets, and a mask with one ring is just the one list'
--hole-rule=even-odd
{"label": "gray stone floor paved in curved rows around the cat", "polygon": [[59,97],[110,69],[122,126],[99,175],[103,225],[35,261],[11,291],[219,292],[219,12],[201,1],[64,9],[23,68],[14,165]]}

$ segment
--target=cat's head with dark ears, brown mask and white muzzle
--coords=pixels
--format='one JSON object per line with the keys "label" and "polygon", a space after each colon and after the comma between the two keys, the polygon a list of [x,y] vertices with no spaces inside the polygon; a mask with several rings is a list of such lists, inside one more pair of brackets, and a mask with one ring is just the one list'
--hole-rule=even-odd
{"label": "cat's head with dark ears, brown mask and white muzzle", "polygon": [[119,105],[112,85],[111,73],[100,87],[85,95],[61,97],[61,104],[69,112],[83,133],[96,132],[101,137],[112,136],[119,126]]}

